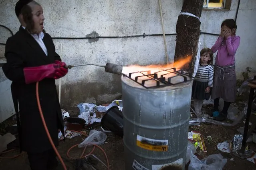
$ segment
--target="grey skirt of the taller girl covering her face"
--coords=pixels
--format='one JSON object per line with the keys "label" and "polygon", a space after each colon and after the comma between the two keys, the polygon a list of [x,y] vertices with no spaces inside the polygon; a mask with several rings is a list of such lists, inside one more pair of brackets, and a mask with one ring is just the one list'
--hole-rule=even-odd
{"label": "grey skirt of the taller girl covering her face", "polygon": [[236,69],[235,65],[214,67],[212,99],[222,98],[226,102],[236,100]]}

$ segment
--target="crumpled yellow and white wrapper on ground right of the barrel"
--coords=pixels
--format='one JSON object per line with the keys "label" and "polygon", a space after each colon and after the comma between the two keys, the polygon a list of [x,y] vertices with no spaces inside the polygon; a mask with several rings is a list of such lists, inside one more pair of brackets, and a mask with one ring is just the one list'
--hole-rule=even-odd
{"label": "crumpled yellow and white wrapper on ground right of the barrel", "polygon": [[200,147],[200,149],[206,153],[206,146],[204,144],[204,138],[202,137],[202,134],[198,132],[188,132],[188,140],[191,142],[194,142],[194,145],[196,148]]}

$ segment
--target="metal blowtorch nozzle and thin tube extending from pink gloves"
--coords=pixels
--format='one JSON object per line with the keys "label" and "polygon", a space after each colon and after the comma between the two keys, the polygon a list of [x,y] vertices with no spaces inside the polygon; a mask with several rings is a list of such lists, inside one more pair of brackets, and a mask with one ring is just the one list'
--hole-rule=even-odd
{"label": "metal blowtorch nozzle and thin tube extending from pink gloves", "polygon": [[98,67],[104,67],[106,72],[117,74],[117,75],[120,75],[123,71],[122,65],[117,65],[117,64],[113,64],[113,63],[107,63],[105,66],[96,65],[96,64],[79,64],[79,65],[66,65],[64,67],[66,69],[71,69],[72,67],[85,66],[85,65],[95,65]]}

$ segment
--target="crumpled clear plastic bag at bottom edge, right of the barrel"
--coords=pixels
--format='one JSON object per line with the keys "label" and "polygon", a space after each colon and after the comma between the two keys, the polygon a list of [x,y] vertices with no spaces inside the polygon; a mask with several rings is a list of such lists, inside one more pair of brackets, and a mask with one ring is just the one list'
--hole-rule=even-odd
{"label": "crumpled clear plastic bag at bottom edge, right of the barrel", "polygon": [[226,163],[227,159],[224,159],[221,154],[212,154],[202,160],[193,154],[190,157],[188,170],[222,170]]}

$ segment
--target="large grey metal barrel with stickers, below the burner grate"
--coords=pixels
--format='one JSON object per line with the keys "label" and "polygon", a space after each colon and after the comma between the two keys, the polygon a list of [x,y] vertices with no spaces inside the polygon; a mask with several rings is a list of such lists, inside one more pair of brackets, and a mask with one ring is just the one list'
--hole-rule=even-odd
{"label": "large grey metal barrel with stickers, below the burner grate", "polygon": [[193,81],[146,89],[121,79],[125,170],[185,170]]}

